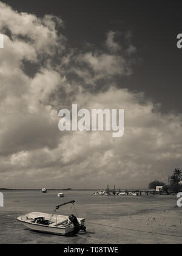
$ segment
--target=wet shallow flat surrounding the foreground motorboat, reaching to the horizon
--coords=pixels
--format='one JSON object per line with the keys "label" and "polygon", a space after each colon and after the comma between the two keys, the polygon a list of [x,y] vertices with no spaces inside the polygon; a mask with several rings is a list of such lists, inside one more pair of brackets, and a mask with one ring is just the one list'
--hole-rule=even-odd
{"label": "wet shallow flat surrounding the foreground motorboat, reaching to the horizon", "polygon": [[[182,208],[177,207],[176,196],[92,196],[92,191],[65,191],[66,196],[58,198],[61,191],[2,192],[1,244],[182,243]],[[79,217],[86,218],[87,233],[71,237],[47,235],[33,232],[16,221],[24,213],[53,213],[56,205],[70,200],[76,201]],[[70,205],[60,208],[59,213],[75,214]]]}

